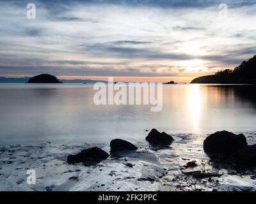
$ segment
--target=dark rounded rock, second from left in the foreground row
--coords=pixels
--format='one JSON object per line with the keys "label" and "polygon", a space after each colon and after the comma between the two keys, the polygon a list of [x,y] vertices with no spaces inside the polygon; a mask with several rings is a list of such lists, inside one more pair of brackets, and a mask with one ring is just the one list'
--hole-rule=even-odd
{"label": "dark rounded rock, second from left in the foreground row", "polygon": [[124,150],[137,150],[138,147],[133,145],[131,142],[127,142],[121,139],[115,139],[110,142],[110,152],[119,152]]}

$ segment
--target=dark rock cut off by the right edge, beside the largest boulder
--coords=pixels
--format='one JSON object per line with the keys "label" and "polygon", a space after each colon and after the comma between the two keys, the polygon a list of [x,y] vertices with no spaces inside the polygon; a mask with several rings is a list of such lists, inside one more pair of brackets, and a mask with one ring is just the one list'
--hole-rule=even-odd
{"label": "dark rock cut off by the right edge, beside the largest boulder", "polygon": [[242,147],[237,155],[236,164],[248,166],[256,165],[256,145],[247,145]]}

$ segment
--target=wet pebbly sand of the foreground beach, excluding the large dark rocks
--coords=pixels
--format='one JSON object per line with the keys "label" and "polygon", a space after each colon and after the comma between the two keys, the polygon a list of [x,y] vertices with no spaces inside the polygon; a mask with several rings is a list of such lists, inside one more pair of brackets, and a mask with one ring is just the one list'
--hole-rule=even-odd
{"label": "wet pebbly sand of the foreground beach, excluding the large dark rocks", "polygon": [[[109,143],[0,145],[1,191],[256,191],[255,170],[238,173],[228,165],[214,164],[205,154],[200,135],[172,135],[168,149],[150,149],[136,143],[136,152],[124,152],[93,166],[67,164],[68,154],[99,147],[109,152]],[[246,134],[250,143],[252,135]],[[188,162],[197,166],[186,168]],[[192,171],[218,173],[226,168],[226,180],[197,178]],[[26,183],[26,170],[36,171],[36,185]],[[254,172],[254,175],[253,175]]]}

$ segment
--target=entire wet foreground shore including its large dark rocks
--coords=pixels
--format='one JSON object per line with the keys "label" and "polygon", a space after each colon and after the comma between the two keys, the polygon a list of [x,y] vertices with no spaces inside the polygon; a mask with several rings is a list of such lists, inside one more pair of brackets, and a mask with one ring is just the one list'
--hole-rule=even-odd
{"label": "entire wet foreground shore including its large dark rocks", "polygon": [[[168,135],[152,129],[135,143],[4,145],[0,190],[255,191],[255,135]],[[26,182],[31,169],[36,185]]]}

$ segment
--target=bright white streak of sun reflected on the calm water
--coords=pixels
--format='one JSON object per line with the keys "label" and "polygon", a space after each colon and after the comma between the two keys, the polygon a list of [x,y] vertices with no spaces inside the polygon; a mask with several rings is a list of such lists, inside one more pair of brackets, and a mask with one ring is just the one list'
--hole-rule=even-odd
{"label": "bright white streak of sun reflected on the calm water", "polygon": [[200,132],[200,116],[202,109],[202,97],[200,94],[200,87],[198,85],[189,85],[186,94],[188,113],[193,120],[193,128],[196,133]]}

